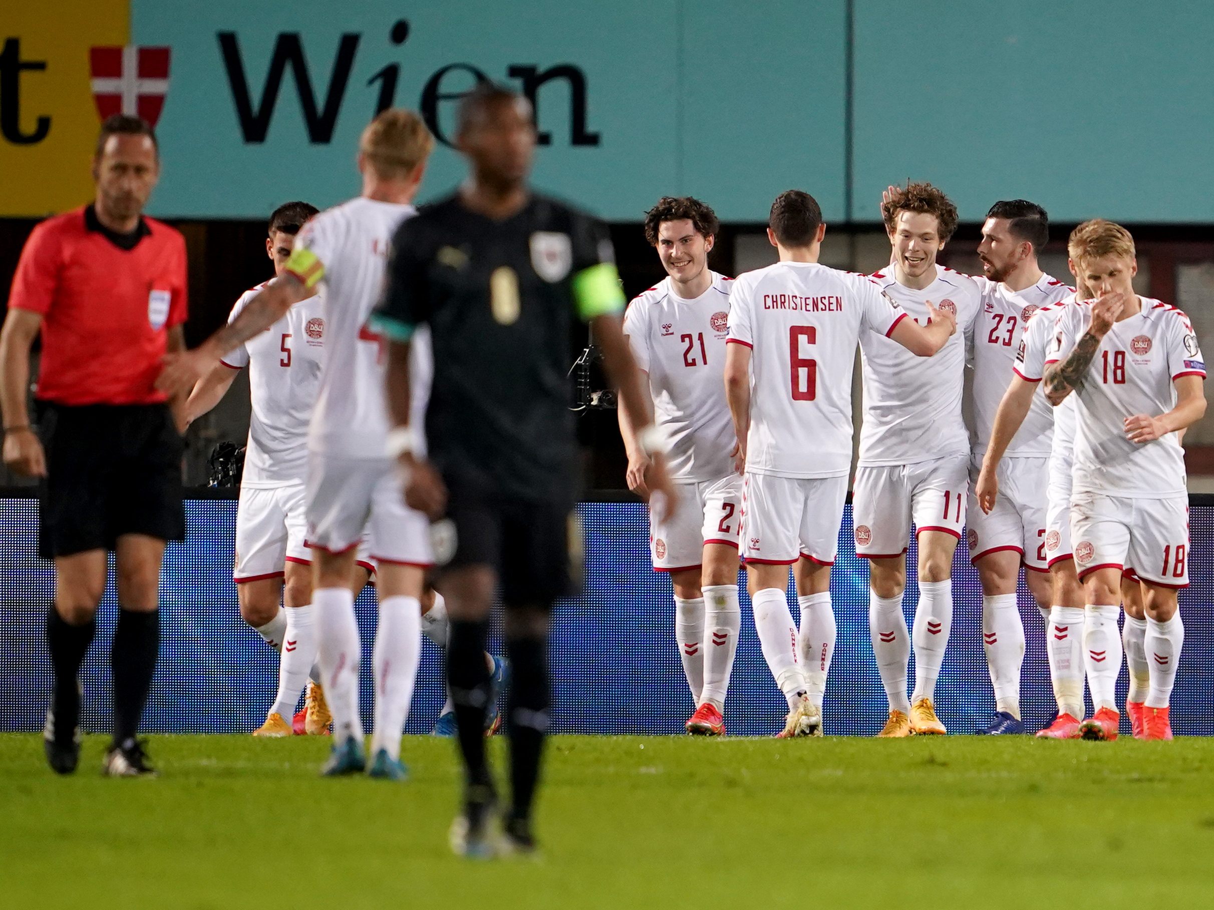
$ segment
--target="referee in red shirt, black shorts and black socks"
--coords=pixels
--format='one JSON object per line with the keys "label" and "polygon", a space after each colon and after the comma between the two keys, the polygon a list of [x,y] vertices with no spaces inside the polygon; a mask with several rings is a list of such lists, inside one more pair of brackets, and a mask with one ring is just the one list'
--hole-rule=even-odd
{"label": "referee in red shirt, black shorts and black socks", "polygon": [[[186,243],[142,216],[159,170],[151,126],[121,114],[106,120],[92,160],[96,200],[34,228],[0,331],[4,461],[42,479],[39,552],[55,561],[46,620],[55,684],[44,735],[59,774],[75,770],[80,756],[80,664],[110,550],[120,609],[104,768],[114,777],[153,773],[136,732],[160,645],[165,541],[185,536],[182,442],[154,382],[165,353],[186,347]],[[25,403],[39,332],[41,438]]]}

